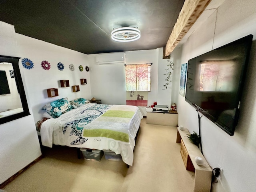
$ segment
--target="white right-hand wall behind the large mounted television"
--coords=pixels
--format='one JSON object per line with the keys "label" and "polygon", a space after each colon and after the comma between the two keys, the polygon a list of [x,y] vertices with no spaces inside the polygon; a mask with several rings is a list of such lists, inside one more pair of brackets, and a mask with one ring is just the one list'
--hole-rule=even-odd
{"label": "white right-hand wall behind the large mounted television", "polygon": [[[189,59],[232,42],[248,34],[254,35],[246,84],[242,96],[240,118],[234,136],[229,136],[206,117],[201,118],[204,156],[212,168],[221,166],[223,172],[212,191],[241,192],[256,189],[256,6],[255,0],[226,0],[188,38],[174,50],[176,65],[172,92],[176,92],[178,124],[189,132],[198,133],[196,110],[178,94],[180,68]],[[179,52],[179,53],[178,53]],[[180,54],[180,56],[178,56]],[[177,62],[178,63],[178,62]]]}

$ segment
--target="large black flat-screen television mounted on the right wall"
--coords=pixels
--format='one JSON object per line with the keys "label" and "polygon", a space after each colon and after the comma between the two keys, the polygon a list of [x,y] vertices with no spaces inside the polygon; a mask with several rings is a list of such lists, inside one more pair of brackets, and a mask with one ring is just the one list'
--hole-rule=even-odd
{"label": "large black flat-screen television mounted on the right wall", "polygon": [[252,35],[188,60],[185,100],[234,135]]}

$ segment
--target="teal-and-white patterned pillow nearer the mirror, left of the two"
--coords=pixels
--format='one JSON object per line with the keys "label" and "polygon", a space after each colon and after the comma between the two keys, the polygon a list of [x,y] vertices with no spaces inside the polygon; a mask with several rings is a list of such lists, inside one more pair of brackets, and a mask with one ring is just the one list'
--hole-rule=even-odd
{"label": "teal-and-white patterned pillow nearer the mirror, left of the two", "polygon": [[53,118],[58,118],[63,113],[74,109],[74,107],[68,102],[68,98],[62,98],[45,104],[42,109],[46,109],[47,113]]}

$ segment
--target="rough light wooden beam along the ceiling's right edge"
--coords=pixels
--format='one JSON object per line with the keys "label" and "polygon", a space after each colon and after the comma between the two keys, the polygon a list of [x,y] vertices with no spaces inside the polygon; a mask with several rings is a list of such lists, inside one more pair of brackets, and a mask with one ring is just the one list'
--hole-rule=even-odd
{"label": "rough light wooden beam along the ceiling's right edge", "polygon": [[166,43],[165,56],[170,55],[210,2],[211,0],[185,0]]}

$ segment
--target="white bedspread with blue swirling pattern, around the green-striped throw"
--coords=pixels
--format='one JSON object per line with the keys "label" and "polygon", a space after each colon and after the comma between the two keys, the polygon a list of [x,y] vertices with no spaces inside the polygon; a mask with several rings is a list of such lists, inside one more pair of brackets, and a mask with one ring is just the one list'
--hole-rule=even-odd
{"label": "white bedspread with blue swirling pattern, around the green-striped throw", "polygon": [[[115,140],[107,137],[86,137],[83,130],[96,118],[102,116],[106,111],[128,110],[134,111],[132,118],[126,120],[124,127],[129,136],[129,142]],[[58,118],[46,120],[40,130],[42,144],[52,147],[52,144],[65,145],[77,148],[91,148],[98,150],[112,150],[116,154],[121,154],[122,160],[132,166],[134,138],[143,118],[140,110],[136,106],[106,105],[106,104],[86,104],[62,114]],[[98,122],[98,121],[97,121]],[[92,129],[92,126],[88,128]],[[124,132],[124,127],[115,128],[115,131]],[[97,127],[95,127],[97,128]]]}

